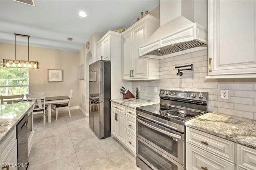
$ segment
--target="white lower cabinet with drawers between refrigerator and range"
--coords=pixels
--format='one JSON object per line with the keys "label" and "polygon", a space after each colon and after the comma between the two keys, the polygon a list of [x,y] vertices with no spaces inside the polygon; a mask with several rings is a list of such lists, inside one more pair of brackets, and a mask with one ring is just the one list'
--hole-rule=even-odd
{"label": "white lower cabinet with drawers between refrigerator and range", "polygon": [[111,134],[136,154],[136,109],[111,102]]}

